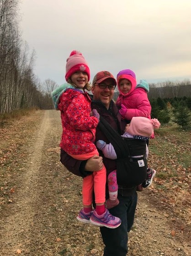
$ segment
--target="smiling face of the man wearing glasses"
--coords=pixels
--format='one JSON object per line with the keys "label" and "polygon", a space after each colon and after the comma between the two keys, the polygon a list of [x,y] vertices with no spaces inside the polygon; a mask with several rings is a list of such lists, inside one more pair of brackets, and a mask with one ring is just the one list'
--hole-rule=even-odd
{"label": "smiling face of the man wearing glasses", "polygon": [[[106,78],[106,80],[102,81],[101,84],[114,85],[114,82],[112,78]],[[101,89],[96,83],[94,86],[92,86],[91,91],[93,93],[93,99],[100,100],[104,106],[106,106],[106,109],[109,109],[114,90],[110,90],[108,87],[106,87],[106,89]]]}

